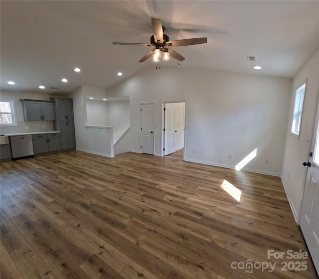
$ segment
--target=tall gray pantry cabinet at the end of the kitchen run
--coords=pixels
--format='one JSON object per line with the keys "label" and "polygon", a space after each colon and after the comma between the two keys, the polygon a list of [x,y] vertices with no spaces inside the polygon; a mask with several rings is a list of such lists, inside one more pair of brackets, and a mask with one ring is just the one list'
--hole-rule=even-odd
{"label": "tall gray pantry cabinet at the end of the kitchen run", "polygon": [[62,149],[75,148],[73,102],[67,98],[50,98],[55,104],[54,130],[61,132]]}

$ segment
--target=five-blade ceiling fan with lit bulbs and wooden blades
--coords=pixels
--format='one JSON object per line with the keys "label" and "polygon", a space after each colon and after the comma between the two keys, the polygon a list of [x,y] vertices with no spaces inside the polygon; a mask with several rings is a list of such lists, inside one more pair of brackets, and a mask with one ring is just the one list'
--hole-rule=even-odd
{"label": "five-blade ceiling fan with lit bulbs and wooden blades", "polygon": [[151,43],[150,44],[119,43],[119,42],[114,42],[113,44],[155,47],[152,50],[150,50],[146,55],[144,55],[139,62],[144,62],[152,55],[153,55],[153,62],[159,62],[161,52],[163,52],[163,60],[165,60],[165,61],[169,60],[169,56],[173,57],[174,59],[176,59],[178,61],[183,61],[185,59],[183,56],[181,56],[178,52],[176,52],[175,50],[173,50],[170,47],[207,43],[206,37],[170,41],[169,37],[167,35],[163,34],[165,27],[163,27],[161,25],[160,19],[152,18],[152,28],[153,28],[154,35],[151,36]]}

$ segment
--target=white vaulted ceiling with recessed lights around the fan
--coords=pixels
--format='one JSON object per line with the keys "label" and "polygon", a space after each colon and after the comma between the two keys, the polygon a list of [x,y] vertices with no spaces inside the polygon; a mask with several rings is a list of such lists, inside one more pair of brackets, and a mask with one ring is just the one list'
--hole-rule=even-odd
{"label": "white vaulted ceiling with recessed lights around the fan", "polygon": [[[1,0],[0,8],[1,90],[110,88],[155,67],[152,58],[138,63],[150,47],[112,44],[149,43],[152,17],[161,19],[170,40],[207,37],[207,44],[175,47],[186,59],[181,66],[174,59],[161,62],[160,71],[175,66],[293,77],[319,48],[317,0]],[[247,55],[256,55],[257,63],[248,62]],[[262,70],[254,70],[256,64]]]}

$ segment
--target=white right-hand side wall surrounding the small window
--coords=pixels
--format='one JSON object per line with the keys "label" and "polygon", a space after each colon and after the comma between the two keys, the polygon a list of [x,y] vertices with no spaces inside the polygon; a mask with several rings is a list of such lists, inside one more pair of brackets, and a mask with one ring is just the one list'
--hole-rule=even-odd
{"label": "white right-hand side wall surrounding the small window", "polygon": [[[300,138],[291,135],[295,93],[302,83],[307,80],[304,100]],[[298,223],[301,210],[302,193],[307,168],[302,165],[308,161],[311,151],[311,139],[316,112],[317,96],[319,90],[319,50],[302,67],[293,80],[289,121],[283,162],[282,181],[284,183],[295,219]],[[312,150],[314,151],[314,150]]]}

